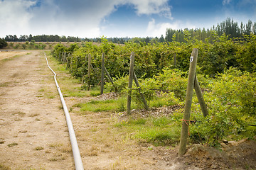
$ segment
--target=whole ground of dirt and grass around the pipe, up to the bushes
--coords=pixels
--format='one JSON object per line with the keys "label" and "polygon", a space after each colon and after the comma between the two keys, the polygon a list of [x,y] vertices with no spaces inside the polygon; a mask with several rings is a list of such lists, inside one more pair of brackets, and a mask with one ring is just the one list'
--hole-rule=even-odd
{"label": "whole ground of dirt and grass around the pipe, up to the bushes", "polygon": [[[43,51],[0,52],[1,59],[6,57],[0,62],[0,169],[74,169],[65,116]],[[125,98],[99,95],[97,86],[82,89],[81,79],[75,79],[65,64],[50,52],[47,57],[58,74],[85,169],[256,168],[255,137],[223,140],[218,147],[191,143],[178,157],[181,123],[172,116],[180,109],[182,113],[182,106],[146,112],[133,104],[132,114],[126,115]],[[174,136],[165,139],[157,132]]]}

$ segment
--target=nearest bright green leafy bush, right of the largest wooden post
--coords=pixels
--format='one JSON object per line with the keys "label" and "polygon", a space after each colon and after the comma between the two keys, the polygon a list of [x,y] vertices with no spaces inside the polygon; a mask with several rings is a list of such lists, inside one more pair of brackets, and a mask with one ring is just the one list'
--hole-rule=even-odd
{"label": "nearest bright green leafy bush, right of the largest wooden post", "polygon": [[212,91],[205,94],[209,115],[203,118],[199,106],[193,105],[192,119],[197,122],[191,126],[191,140],[218,146],[223,138],[255,136],[256,131],[248,132],[248,124],[256,121],[255,82],[251,74],[233,68],[218,74],[210,84]]}

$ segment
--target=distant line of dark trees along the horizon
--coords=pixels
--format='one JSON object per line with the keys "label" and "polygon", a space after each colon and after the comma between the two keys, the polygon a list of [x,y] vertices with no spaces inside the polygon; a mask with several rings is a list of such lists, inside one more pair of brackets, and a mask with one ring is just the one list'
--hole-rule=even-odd
{"label": "distant line of dark trees along the horizon", "polygon": [[[209,38],[211,32],[215,31],[217,35],[228,35],[229,38],[241,38],[242,35],[250,35],[256,34],[256,23],[252,23],[252,21],[248,21],[248,23],[240,23],[233,21],[231,18],[227,18],[222,23],[218,23],[217,26],[213,26],[210,29],[188,29],[184,30],[173,30],[171,28],[166,29],[166,35],[161,35],[160,38],[107,38],[109,42],[124,44],[124,42],[185,42],[188,35],[192,38],[196,38],[198,40],[205,41],[206,38]],[[102,38],[78,38],[78,37],[65,37],[59,35],[20,35],[18,38],[16,35],[6,35],[4,38],[6,41],[11,42],[26,42],[35,40],[36,42],[101,42]]]}

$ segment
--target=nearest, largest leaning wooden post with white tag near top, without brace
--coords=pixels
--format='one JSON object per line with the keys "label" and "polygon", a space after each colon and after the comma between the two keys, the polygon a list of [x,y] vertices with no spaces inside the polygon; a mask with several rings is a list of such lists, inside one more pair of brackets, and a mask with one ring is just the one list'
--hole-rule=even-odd
{"label": "nearest, largest leaning wooden post with white tag near top, without brace", "polygon": [[192,104],[193,89],[194,89],[194,82],[195,82],[195,75],[196,75],[197,57],[198,57],[198,49],[194,48],[191,53],[191,60],[190,60],[189,73],[188,73],[188,86],[186,89],[186,101],[185,101],[185,108],[184,108],[182,128],[181,128],[181,141],[180,141],[179,151],[178,151],[179,156],[182,156],[186,152],[186,142],[188,138],[188,126],[190,123],[189,118],[191,114],[191,104]]}

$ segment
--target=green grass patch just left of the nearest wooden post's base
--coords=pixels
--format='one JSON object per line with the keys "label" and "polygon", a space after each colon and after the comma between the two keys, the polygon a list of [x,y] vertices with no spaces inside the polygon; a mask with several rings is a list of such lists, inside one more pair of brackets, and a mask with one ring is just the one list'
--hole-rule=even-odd
{"label": "green grass patch just left of the nearest wooden post's base", "polygon": [[142,142],[149,142],[155,146],[178,144],[181,124],[169,117],[161,118],[131,118],[114,124],[127,134],[134,134],[133,138]]}

